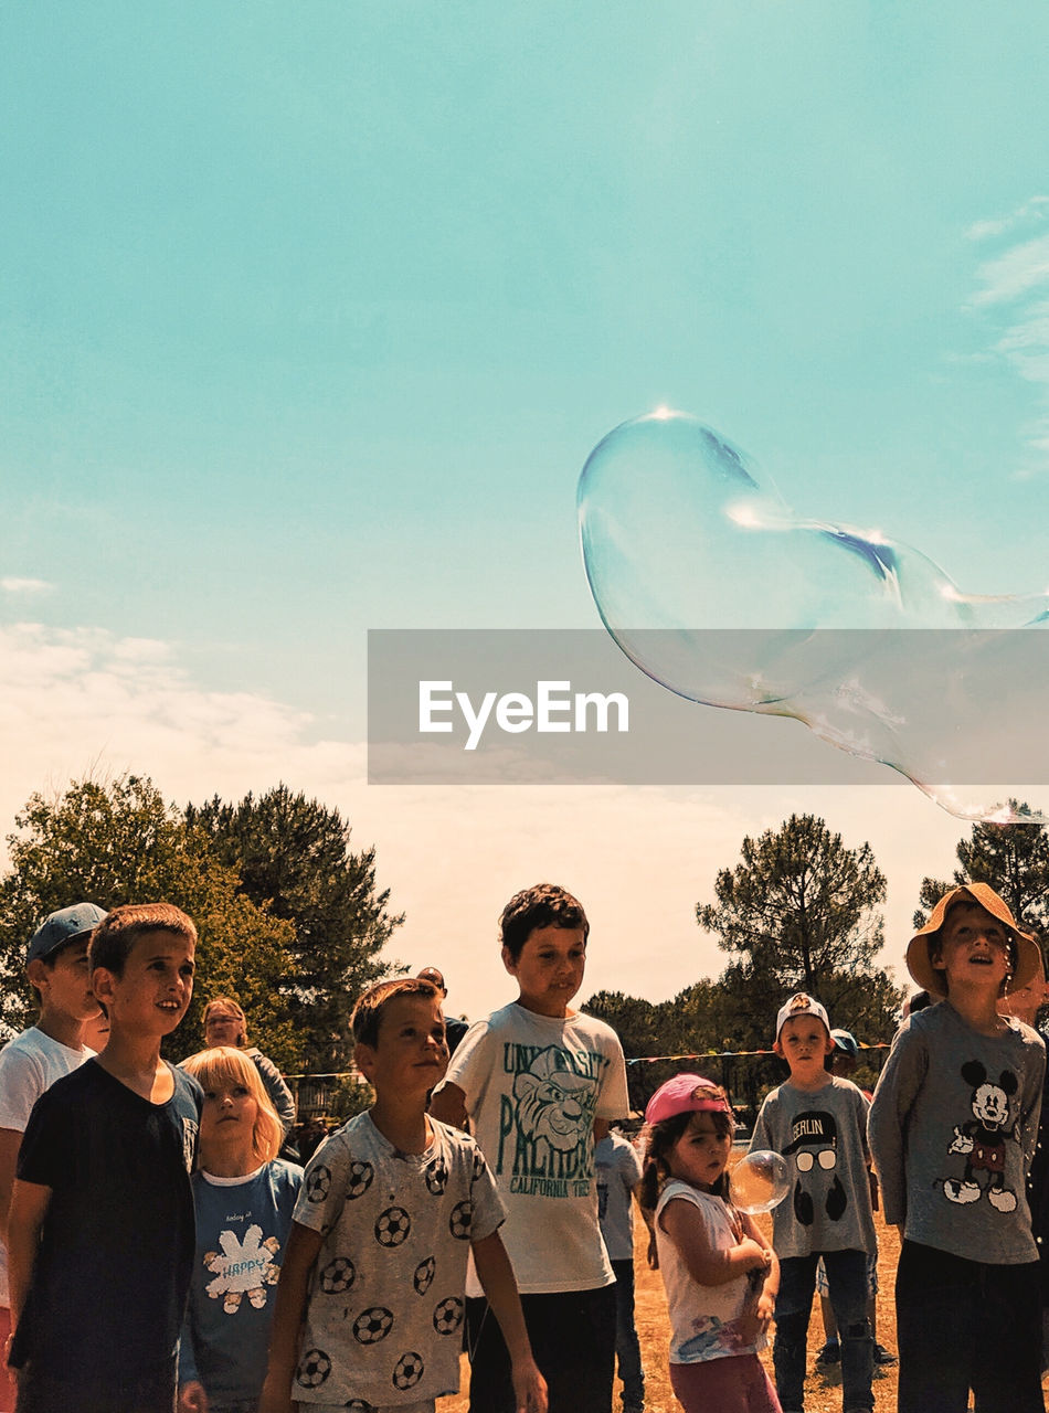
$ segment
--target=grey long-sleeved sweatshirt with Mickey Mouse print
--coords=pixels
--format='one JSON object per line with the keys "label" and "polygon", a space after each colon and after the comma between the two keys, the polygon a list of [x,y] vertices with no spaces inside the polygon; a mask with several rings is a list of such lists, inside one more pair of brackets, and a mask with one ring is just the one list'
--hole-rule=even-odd
{"label": "grey long-sleeved sweatshirt with Mickey Mouse print", "polygon": [[885,1221],[908,1241],[992,1266],[1038,1260],[1026,1170],[1045,1044],[1019,1020],[984,1036],[939,1002],[896,1031],[869,1142]]}

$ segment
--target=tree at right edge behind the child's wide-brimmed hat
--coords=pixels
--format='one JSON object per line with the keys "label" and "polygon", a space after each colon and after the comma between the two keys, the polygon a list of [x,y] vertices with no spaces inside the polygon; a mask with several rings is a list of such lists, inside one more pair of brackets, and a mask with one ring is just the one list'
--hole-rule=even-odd
{"label": "tree at right edge behind the child's wide-brimmed hat", "polygon": [[[1014,814],[1029,815],[1031,805],[1009,800]],[[990,883],[1012,910],[1021,927],[1036,931],[1042,947],[1049,944],[1049,829],[1043,824],[974,824],[968,839],[960,839],[953,883],[926,877],[915,928],[925,927],[929,913],[950,887],[960,883]]]}

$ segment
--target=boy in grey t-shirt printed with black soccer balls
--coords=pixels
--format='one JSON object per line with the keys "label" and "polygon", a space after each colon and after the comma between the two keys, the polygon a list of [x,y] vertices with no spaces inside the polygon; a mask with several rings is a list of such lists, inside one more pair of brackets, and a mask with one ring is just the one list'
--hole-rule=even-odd
{"label": "boy in grey t-shirt printed with black soccer balls", "polygon": [[513,1349],[515,1409],[543,1413],[492,1176],[472,1139],[426,1112],[448,1064],[440,993],[417,976],[379,982],[352,1026],[375,1105],[307,1167],[260,1413],[288,1413],[293,1379],[317,1413],[433,1413],[459,1383],[468,1251]]}

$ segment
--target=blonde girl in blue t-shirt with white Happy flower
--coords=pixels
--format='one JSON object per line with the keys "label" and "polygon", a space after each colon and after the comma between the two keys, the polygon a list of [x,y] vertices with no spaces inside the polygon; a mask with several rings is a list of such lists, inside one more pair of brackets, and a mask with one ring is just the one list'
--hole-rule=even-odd
{"label": "blonde girl in blue t-shirt with white Happy flower", "polygon": [[303,1169],[277,1157],[281,1122],[243,1050],[201,1050],[182,1068],[204,1089],[204,1109],[178,1406],[181,1413],[254,1413],[266,1378],[273,1287]]}

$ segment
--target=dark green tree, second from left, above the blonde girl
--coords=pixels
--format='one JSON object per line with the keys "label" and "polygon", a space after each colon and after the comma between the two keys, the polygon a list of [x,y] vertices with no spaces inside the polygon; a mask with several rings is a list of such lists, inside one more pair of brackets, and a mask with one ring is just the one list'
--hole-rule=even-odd
{"label": "dark green tree, second from left, above the blonde girl", "polygon": [[218,796],[187,805],[185,821],[202,829],[218,856],[240,877],[240,892],[294,928],[294,988],[303,1002],[307,1065],[339,1071],[349,1064],[349,1015],[356,998],[399,964],[382,950],[404,921],[390,914],[389,889],[376,890],[375,848],[349,851],[349,825],[338,810],[280,784],[239,804]]}

